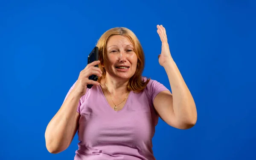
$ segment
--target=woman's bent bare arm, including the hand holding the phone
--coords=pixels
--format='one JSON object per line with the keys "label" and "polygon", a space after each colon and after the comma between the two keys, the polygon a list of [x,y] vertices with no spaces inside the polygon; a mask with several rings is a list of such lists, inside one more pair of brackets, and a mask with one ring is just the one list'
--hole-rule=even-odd
{"label": "woman's bent bare arm, including the hand holding the phone", "polygon": [[88,79],[91,75],[102,76],[98,65],[100,61],[93,61],[81,70],[78,80],[70,88],[70,93],[65,99],[59,111],[47,125],[45,142],[47,150],[51,153],[59,153],[68,148],[78,129],[80,114],[77,107],[82,96],[87,91],[87,84],[100,85],[99,82]]}

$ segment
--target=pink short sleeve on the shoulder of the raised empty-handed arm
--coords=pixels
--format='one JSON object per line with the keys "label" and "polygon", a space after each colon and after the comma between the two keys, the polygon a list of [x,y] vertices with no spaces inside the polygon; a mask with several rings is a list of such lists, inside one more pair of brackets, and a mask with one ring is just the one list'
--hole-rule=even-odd
{"label": "pink short sleeve on the shoulder of the raised empty-handed arm", "polygon": [[149,97],[151,99],[151,102],[154,102],[155,97],[157,96],[158,93],[168,90],[168,88],[166,88],[163,84],[161,84],[160,82],[156,81],[156,80],[150,80],[148,82],[148,89],[151,92],[151,97]]}

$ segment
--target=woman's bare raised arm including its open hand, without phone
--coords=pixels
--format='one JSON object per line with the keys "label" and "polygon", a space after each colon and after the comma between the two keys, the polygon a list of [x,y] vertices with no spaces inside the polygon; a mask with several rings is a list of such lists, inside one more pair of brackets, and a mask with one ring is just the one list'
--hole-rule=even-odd
{"label": "woman's bare raised arm including its open hand, without phone", "polygon": [[163,121],[169,125],[180,129],[191,128],[197,121],[194,99],[172,59],[165,28],[157,25],[157,33],[162,41],[159,63],[166,70],[172,93],[160,92],[154,99],[154,107]]}

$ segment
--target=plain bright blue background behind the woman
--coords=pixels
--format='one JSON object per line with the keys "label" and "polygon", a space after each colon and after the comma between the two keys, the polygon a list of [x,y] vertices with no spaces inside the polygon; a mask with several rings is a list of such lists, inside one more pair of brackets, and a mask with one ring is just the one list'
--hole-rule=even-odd
{"label": "plain bright blue background behind the woman", "polygon": [[197,105],[198,122],[178,130],[162,120],[157,160],[255,160],[256,1],[112,0],[0,2],[0,160],[72,160],[77,136],[50,154],[44,131],[108,29],[141,41],[143,75],[166,85],[157,24]]}

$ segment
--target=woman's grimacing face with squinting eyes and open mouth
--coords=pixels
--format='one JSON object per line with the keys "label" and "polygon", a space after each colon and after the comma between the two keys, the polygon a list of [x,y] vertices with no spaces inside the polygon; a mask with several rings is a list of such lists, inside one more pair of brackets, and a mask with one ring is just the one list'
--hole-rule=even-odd
{"label": "woman's grimacing face with squinting eyes and open mouth", "polygon": [[130,79],[137,70],[137,55],[134,46],[125,36],[113,35],[107,43],[106,61],[103,67],[107,74],[118,79]]}

